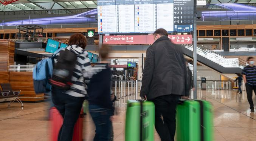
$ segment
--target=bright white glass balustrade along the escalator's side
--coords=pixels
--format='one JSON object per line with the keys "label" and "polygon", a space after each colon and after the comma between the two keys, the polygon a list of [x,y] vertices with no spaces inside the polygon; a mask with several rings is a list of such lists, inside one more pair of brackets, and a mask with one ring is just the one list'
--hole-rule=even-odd
{"label": "bright white glass balustrade along the escalator's side", "polygon": [[[189,44],[183,44],[183,46],[193,51],[193,46]],[[226,58],[216,52],[207,49],[203,46],[197,46],[197,54],[223,66],[223,67],[240,67],[243,69],[246,66],[246,61],[239,58]]]}

